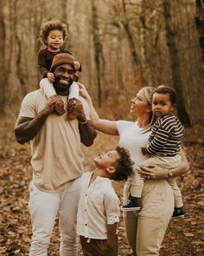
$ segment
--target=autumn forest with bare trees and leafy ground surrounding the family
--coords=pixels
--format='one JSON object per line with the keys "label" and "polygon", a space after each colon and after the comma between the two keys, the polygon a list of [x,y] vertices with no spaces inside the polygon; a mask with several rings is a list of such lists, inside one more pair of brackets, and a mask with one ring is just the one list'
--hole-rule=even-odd
{"label": "autumn forest with bare trees and leafy ground surrounding the family", "polygon": [[[65,47],[82,64],[80,82],[86,85],[103,118],[132,120],[130,100],[142,86],[166,84],[176,90],[178,115],[187,128],[183,148],[190,172],[179,182],[188,218],[170,224],[162,254],[201,255],[203,0],[0,1],[1,255],[28,253],[29,144],[18,146],[13,128],[22,97],[39,87],[39,30],[41,23],[51,19],[68,24]],[[117,142],[117,138],[99,134],[91,148],[83,148],[85,167],[91,167],[93,156],[101,149],[110,149]],[[115,186],[121,196],[123,184]],[[55,228],[50,255],[58,255]],[[119,256],[124,256],[129,248],[122,220],[120,228]]]}

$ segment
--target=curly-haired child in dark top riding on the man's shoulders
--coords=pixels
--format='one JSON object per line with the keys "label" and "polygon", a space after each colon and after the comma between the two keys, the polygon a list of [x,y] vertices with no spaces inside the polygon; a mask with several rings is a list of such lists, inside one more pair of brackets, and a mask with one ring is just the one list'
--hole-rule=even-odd
{"label": "curly-haired child in dark top riding on the man's shoulders", "polygon": [[[52,84],[54,82],[54,74],[52,70],[50,70],[50,68],[53,58],[57,54],[68,53],[72,55],[72,53],[68,49],[62,48],[66,39],[67,24],[62,23],[59,20],[51,20],[41,25],[39,40],[43,45],[46,46],[46,49],[41,49],[38,53],[38,67],[43,77],[40,82],[40,86],[48,98],[57,98],[55,110],[59,115],[63,115],[65,113],[64,103],[62,102],[61,97],[59,95],[56,95],[54,86]],[[73,68],[75,69],[75,71],[81,71],[80,62],[74,61]],[[68,99],[71,99],[73,97],[79,97],[79,87],[76,82],[73,82],[70,87]],[[74,113],[70,115],[69,111],[67,111],[67,115],[69,119],[73,119],[75,117]]]}

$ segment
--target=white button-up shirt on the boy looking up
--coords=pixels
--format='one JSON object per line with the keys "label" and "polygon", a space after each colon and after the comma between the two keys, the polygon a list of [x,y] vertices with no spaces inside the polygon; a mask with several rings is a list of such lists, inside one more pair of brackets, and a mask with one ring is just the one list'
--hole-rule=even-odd
{"label": "white button-up shirt on the boy looking up", "polygon": [[82,175],[77,233],[89,239],[107,239],[107,224],[119,222],[119,200],[108,178],[97,177],[89,186],[92,172]]}

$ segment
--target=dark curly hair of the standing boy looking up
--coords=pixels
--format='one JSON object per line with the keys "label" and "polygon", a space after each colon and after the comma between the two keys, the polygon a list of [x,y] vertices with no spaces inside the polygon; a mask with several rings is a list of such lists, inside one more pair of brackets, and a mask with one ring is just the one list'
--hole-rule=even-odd
{"label": "dark curly hair of the standing boy looking up", "polygon": [[117,147],[116,151],[119,154],[118,160],[115,162],[116,172],[112,174],[111,180],[126,181],[133,173],[134,161],[131,161],[131,155],[125,148]]}

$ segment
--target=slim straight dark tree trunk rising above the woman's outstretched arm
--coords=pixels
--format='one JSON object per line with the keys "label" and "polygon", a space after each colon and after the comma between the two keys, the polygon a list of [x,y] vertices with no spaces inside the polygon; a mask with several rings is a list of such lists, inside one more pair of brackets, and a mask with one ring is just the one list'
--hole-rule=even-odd
{"label": "slim straight dark tree trunk rising above the woman's outstretched arm", "polygon": [[102,45],[99,40],[99,23],[98,15],[96,9],[96,2],[92,0],[92,38],[93,38],[93,48],[94,48],[94,59],[96,63],[96,75],[97,75],[97,84],[98,84],[98,102],[99,107],[102,104],[102,91],[101,91],[101,65],[100,58],[102,52]]}

